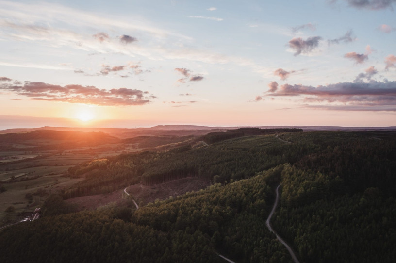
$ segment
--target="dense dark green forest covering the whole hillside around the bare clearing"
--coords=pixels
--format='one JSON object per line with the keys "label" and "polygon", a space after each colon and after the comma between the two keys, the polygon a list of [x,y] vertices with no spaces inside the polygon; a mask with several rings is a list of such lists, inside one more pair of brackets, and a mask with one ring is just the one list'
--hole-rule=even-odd
{"label": "dense dark green forest covering the whole hillside around the bare clearing", "polygon": [[271,222],[300,262],[396,258],[395,132],[243,135],[123,154],[69,173],[85,180],[63,198],[186,176],[212,185],[138,210],[74,212],[52,196],[43,218],[1,230],[1,262],[223,262],[218,253],[235,262],[291,262],[265,225],[279,184]]}

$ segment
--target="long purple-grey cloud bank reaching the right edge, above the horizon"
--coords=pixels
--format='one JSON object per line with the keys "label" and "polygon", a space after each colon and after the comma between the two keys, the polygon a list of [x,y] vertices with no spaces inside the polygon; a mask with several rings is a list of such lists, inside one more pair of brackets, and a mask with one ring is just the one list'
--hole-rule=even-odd
{"label": "long purple-grey cloud bank reaching the right edge, above the horizon", "polygon": [[[375,69],[370,67],[367,72],[375,74]],[[318,87],[284,84],[268,96],[302,96],[305,102],[327,101],[338,103],[334,105],[337,107],[357,106],[364,111],[378,110],[379,107],[396,111],[396,81],[340,82]]]}

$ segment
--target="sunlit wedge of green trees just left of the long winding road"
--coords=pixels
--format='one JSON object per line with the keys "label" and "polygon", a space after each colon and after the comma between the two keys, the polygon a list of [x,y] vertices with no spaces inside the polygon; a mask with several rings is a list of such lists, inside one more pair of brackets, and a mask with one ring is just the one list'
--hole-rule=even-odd
{"label": "sunlit wedge of green trees just left of the long winding road", "polygon": [[132,222],[165,232],[200,231],[237,262],[290,262],[285,248],[265,225],[274,199],[267,181],[279,169],[149,204],[133,214]]}

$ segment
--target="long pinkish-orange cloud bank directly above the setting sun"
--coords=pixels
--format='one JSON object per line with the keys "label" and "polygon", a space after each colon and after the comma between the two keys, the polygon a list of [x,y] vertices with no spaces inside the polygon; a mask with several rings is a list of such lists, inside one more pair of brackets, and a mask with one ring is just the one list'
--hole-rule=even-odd
{"label": "long pinkish-orange cloud bank directly above the setting sun", "polygon": [[44,82],[25,82],[23,85],[0,84],[0,90],[14,92],[33,100],[85,103],[99,106],[143,105],[150,102],[147,91],[137,89],[99,89],[95,86],[77,84],[60,86]]}

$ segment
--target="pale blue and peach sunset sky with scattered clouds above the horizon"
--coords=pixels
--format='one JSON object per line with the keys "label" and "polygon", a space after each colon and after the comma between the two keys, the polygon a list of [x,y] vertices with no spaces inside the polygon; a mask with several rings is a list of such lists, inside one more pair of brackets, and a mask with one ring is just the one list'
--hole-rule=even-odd
{"label": "pale blue and peach sunset sky with scattered clouds above the horizon", "polygon": [[396,0],[0,0],[0,129],[396,126]]}

